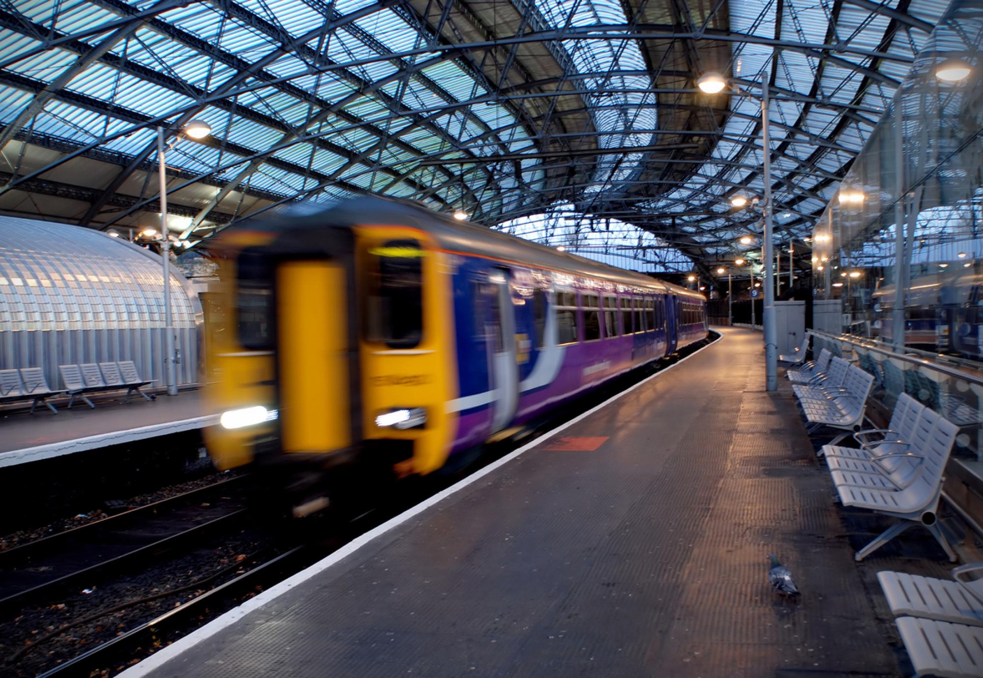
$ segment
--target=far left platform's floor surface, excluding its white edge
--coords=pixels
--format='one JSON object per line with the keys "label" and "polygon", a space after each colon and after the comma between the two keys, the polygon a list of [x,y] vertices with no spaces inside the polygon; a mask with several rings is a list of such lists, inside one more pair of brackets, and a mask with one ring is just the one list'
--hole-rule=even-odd
{"label": "far left platform's floor surface, excluding its white edge", "polygon": [[208,414],[202,411],[202,397],[197,390],[180,391],[176,396],[161,394],[152,402],[139,394],[132,395],[128,402],[122,397],[92,400],[95,409],[79,402],[69,410],[59,402],[58,414],[42,406],[38,406],[33,415],[27,412],[0,414],[0,454],[141,426],[191,420]]}

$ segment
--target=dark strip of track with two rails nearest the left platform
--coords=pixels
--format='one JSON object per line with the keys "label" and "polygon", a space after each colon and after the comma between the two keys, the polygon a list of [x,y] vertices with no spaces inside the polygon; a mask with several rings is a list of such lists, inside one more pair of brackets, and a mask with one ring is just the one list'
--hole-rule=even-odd
{"label": "dark strip of track with two rails nearest the left platform", "polygon": [[0,614],[136,567],[225,528],[245,511],[245,477],[224,480],[0,551]]}

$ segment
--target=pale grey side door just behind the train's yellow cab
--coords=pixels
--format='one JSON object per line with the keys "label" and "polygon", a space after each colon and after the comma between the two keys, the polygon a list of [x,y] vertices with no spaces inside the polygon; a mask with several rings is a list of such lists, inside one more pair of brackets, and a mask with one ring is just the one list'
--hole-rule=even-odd
{"label": "pale grey side door just behind the train's yellow cab", "polygon": [[492,433],[505,428],[519,404],[519,365],[515,344],[515,310],[508,285],[508,271],[489,277],[493,294],[489,299],[489,335],[492,353]]}

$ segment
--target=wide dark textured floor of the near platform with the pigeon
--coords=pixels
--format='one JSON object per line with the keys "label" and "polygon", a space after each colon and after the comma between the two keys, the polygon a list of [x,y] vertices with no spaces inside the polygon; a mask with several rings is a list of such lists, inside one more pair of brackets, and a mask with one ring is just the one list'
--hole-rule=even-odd
{"label": "wide dark textured floor of the near platform with the pigeon", "polygon": [[724,331],[150,675],[900,675],[896,553],[853,562],[761,334]]}

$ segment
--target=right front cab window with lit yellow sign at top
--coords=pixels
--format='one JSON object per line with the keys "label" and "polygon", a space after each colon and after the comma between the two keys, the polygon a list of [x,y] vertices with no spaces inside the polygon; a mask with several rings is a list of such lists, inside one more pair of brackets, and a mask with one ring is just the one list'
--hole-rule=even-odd
{"label": "right front cab window with lit yellow sign at top", "polygon": [[423,256],[415,240],[393,240],[369,251],[366,338],[413,348],[423,337]]}

